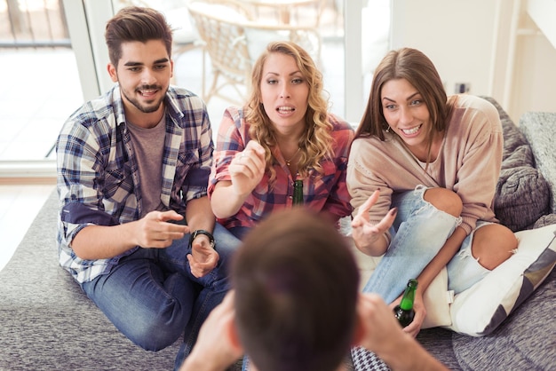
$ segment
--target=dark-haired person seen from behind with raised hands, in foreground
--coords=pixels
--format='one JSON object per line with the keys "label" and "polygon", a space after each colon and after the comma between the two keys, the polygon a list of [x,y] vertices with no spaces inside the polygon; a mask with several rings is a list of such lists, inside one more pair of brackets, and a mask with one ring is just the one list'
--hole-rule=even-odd
{"label": "dark-haired person seen from behind with raised hands, in foreground", "polygon": [[308,209],[284,209],[252,229],[232,259],[233,291],[210,313],[180,371],[345,369],[353,344],[394,370],[446,370],[401,330],[376,294],[359,294],[346,238]]}

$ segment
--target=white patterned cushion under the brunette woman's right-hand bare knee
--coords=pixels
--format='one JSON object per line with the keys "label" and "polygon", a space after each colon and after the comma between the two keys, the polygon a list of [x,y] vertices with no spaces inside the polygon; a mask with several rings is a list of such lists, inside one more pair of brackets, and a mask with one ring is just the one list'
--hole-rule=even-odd
{"label": "white patterned cushion under the brunette woman's right-hand bare knee", "polygon": [[490,334],[552,271],[556,225],[514,234],[519,241],[517,252],[455,297],[448,328],[466,335]]}

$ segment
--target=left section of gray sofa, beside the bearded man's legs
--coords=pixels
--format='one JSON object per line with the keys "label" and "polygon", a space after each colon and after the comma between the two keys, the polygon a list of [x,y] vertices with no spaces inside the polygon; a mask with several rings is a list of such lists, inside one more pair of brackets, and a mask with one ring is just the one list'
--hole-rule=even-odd
{"label": "left section of gray sofa, beside the bearded man's legs", "polygon": [[179,342],[143,351],[60,268],[57,202],[54,192],[0,272],[0,370],[171,370]]}

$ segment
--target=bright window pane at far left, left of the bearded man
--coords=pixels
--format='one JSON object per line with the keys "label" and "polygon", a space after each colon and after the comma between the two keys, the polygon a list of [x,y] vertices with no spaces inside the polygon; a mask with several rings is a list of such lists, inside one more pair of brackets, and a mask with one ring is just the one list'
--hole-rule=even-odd
{"label": "bright window pane at far left, left of the bearded man", "polygon": [[56,137],[83,101],[61,1],[0,1],[0,65],[0,182],[52,182]]}

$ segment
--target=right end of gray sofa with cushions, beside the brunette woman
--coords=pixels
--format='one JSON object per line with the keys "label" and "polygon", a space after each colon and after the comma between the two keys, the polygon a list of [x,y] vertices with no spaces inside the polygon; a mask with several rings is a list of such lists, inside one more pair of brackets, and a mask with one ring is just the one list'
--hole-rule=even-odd
{"label": "right end of gray sofa with cushions, beside the brunette woman", "polygon": [[[495,211],[516,232],[556,224],[556,113],[527,113],[516,127],[495,100],[504,128],[504,161]],[[556,369],[556,270],[491,334],[422,330],[425,349],[454,370]]]}

